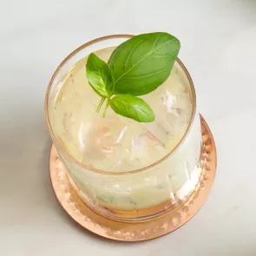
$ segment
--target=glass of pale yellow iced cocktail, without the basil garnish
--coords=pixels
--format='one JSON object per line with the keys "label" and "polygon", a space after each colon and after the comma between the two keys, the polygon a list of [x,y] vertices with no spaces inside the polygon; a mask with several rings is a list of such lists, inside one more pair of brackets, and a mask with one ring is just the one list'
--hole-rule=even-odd
{"label": "glass of pale yellow iced cocktail, without the basil garnish", "polygon": [[46,119],[69,181],[96,213],[112,220],[152,220],[189,198],[201,177],[200,115],[194,85],[180,59],[167,80],[142,95],[154,122],[141,123],[108,108],[85,65],[91,52],[108,61],[131,36],[105,36],[75,49],[56,69],[46,95]]}

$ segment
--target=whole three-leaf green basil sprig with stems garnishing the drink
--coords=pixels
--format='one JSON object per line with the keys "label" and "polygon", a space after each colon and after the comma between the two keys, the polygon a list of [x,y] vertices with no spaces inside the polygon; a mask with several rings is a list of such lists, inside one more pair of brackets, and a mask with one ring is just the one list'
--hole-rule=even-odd
{"label": "whole three-leaf green basil sprig with stems garnishing the drink", "polygon": [[[89,55],[86,74],[89,85],[102,101],[107,99],[116,114],[135,121],[154,121],[154,112],[138,95],[146,95],[167,80],[181,48],[180,41],[167,33],[134,36],[121,43],[108,63],[95,54]],[[115,95],[115,96],[114,96]]]}

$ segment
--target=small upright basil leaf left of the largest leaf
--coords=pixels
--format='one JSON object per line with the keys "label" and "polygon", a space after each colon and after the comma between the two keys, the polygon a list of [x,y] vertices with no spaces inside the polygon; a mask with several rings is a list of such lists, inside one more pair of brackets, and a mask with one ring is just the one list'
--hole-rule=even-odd
{"label": "small upright basil leaf left of the largest leaf", "polygon": [[109,97],[113,94],[115,80],[108,64],[94,53],[91,53],[86,63],[86,75],[89,85],[98,95]]}

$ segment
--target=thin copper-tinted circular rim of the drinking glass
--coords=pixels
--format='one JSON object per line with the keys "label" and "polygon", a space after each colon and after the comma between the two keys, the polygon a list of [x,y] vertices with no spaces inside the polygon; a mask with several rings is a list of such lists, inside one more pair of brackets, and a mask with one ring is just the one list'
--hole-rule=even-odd
{"label": "thin copper-tinted circular rim of the drinking glass", "polygon": [[194,117],[195,117],[195,113],[196,113],[196,95],[195,95],[195,90],[194,90],[194,82],[192,81],[191,76],[189,75],[187,68],[185,67],[185,65],[183,64],[183,62],[181,62],[181,60],[177,57],[176,61],[179,63],[179,65],[181,66],[181,69],[184,71],[187,80],[189,82],[189,85],[191,87],[191,92],[192,92],[192,115],[190,118],[190,121],[187,125],[187,129],[184,133],[184,135],[181,137],[181,140],[177,143],[177,145],[168,153],[166,154],[164,157],[162,157],[160,160],[155,161],[154,163],[146,166],[146,167],[141,167],[135,170],[131,170],[131,171],[125,171],[125,172],[108,172],[108,171],[103,171],[100,169],[97,169],[95,167],[90,167],[89,165],[86,165],[84,163],[82,163],[81,161],[77,161],[71,154],[69,154],[69,152],[67,152],[65,150],[65,148],[62,148],[62,145],[60,143],[60,141],[57,140],[55,133],[53,132],[53,129],[51,127],[50,121],[49,121],[49,91],[52,87],[52,84],[54,82],[54,80],[56,79],[56,75],[58,75],[59,71],[62,69],[62,67],[65,65],[66,62],[68,62],[73,56],[75,56],[75,54],[77,54],[80,50],[88,47],[89,45],[93,44],[93,43],[98,43],[98,42],[102,42],[108,39],[115,39],[115,38],[129,38],[129,37],[133,37],[133,35],[127,35],[127,34],[119,34],[119,35],[110,35],[110,36],[102,36],[102,37],[98,37],[94,40],[89,41],[88,43],[84,43],[81,46],[79,46],[78,48],[76,48],[75,50],[73,50],[69,56],[65,57],[64,60],[59,64],[59,66],[56,68],[54,74],[51,76],[50,81],[49,81],[49,85],[46,91],[46,95],[45,95],[45,102],[44,102],[44,114],[45,114],[45,119],[46,119],[46,123],[47,123],[47,128],[49,130],[49,135],[51,136],[51,139],[53,140],[54,145],[56,146],[56,148],[58,150],[60,150],[62,152],[62,154],[69,160],[72,162],[75,162],[76,165],[85,168],[89,171],[98,173],[98,174],[111,174],[111,175],[123,175],[123,174],[135,174],[135,173],[139,173],[142,171],[145,171],[147,169],[150,169],[151,167],[157,166],[159,165],[162,161],[165,161],[171,154],[174,154],[175,151],[178,150],[178,148],[181,147],[182,143],[186,140],[187,135],[189,134],[190,129],[192,128],[192,125],[194,123]]}

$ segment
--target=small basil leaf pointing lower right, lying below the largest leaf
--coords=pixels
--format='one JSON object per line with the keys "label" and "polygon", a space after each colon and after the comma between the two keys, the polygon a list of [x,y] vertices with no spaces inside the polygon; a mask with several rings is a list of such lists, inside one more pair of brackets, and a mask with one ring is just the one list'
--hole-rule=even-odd
{"label": "small basil leaf pointing lower right, lying below the largest leaf", "polygon": [[133,95],[115,95],[109,103],[116,114],[140,122],[154,121],[153,110],[141,98]]}

